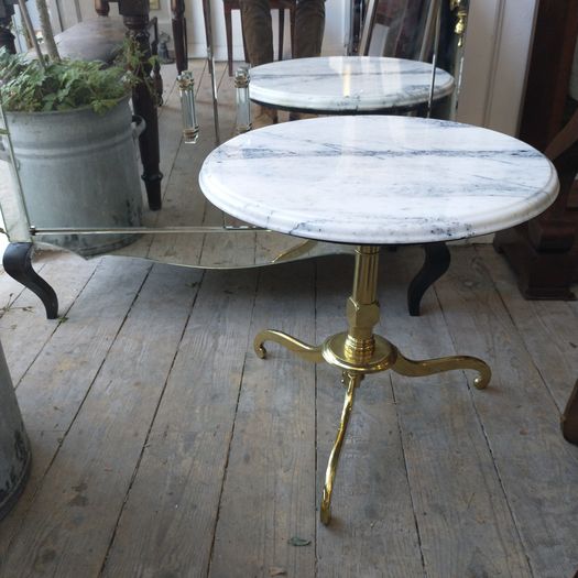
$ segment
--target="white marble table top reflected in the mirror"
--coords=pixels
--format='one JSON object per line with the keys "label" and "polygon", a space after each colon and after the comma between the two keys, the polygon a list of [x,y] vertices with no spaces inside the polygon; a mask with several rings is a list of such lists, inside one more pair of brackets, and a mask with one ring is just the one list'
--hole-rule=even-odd
{"label": "white marble table top reflected in the mirror", "polygon": [[[290,110],[385,112],[428,101],[432,65],[401,58],[329,56],[279,61],[250,70],[252,100]],[[436,68],[434,99],[454,90],[454,77]]]}

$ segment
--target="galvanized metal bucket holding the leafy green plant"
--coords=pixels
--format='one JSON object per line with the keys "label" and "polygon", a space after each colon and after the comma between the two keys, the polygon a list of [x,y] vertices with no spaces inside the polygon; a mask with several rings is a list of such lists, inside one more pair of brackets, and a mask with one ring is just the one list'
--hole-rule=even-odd
{"label": "galvanized metal bucket holding the leafy green plant", "polygon": [[[7,112],[30,225],[138,227],[142,194],[137,127],[129,98],[103,114],[90,108],[55,112]],[[142,120],[142,119],[141,119]],[[88,257],[123,247],[132,235],[39,236]]]}

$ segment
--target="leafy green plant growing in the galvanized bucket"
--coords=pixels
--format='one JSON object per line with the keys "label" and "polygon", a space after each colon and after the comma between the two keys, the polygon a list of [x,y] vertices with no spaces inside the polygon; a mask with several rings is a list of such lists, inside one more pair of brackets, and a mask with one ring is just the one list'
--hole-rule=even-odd
{"label": "leafy green plant growing in the galvanized bucket", "polygon": [[121,66],[63,59],[39,66],[23,55],[0,51],[0,98],[6,110],[37,112],[91,107],[105,112],[126,96],[134,76]]}

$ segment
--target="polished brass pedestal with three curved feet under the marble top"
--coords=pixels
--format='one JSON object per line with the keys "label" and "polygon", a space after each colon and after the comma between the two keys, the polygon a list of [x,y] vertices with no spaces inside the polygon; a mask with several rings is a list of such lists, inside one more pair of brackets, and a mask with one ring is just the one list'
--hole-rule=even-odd
{"label": "polished brass pedestal with three curved feet under the marble top", "polygon": [[320,509],[320,517],[324,524],[328,524],[331,520],[331,492],[339,454],[353,406],[355,391],[367,373],[392,369],[402,375],[421,377],[455,369],[471,369],[479,373],[473,380],[473,384],[480,390],[488,385],[491,378],[490,368],[481,359],[452,356],[414,361],[403,357],[393,343],[373,334],[373,327],[380,318],[377,296],[379,250],[380,248],[375,246],[359,246],[356,249],[353,291],[347,301],[348,331],[327,338],[320,346],[304,343],[294,337],[272,329],[259,332],[254,339],[255,352],[262,359],[266,356],[263,343],[275,341],[304,359],[315,363],[325,360],[342,370],[342,381],[347,393],[339,429],[325,475]]}

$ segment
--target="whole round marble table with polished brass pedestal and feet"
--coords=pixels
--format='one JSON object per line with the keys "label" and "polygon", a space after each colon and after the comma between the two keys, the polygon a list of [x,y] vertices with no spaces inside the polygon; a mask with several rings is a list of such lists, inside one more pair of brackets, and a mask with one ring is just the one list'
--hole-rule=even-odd
{"label": "whole round marble table with polished brass pedestal and feet", "polygon": [[356,246],[348,329],[312,346],[281,331],[258,334],[342,372],[346,396],[320,505],[330,520],[337,462],[356,389],[388,369],[421,377],[473,370],[483,389],[490,368],[454,356],[414,361],[375,335],[379,246],[429,243],[494,232],[526,221],[555,199],[552,163],[531,146],[486,129],[410,117],[329,117],[248,132],[216,149],[199,184],[226,212],[305,239]]}

